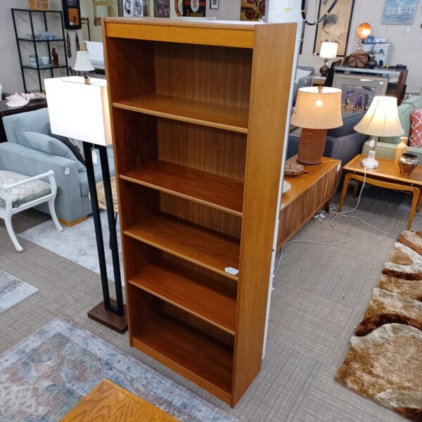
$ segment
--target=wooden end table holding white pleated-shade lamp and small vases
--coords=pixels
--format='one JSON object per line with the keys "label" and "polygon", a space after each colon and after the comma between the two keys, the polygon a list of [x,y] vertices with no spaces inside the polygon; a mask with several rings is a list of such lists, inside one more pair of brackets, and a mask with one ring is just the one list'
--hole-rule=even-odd
{"label": "wooden end table holding white pleated-shade lamp and small vases", "polygon": [[[356,195],[359,185],[364,181],[365,169],[360,165],[360,162],[364,158],[366,158],[366,155],[357,155],[343,167],[346,176],[341,193],[340,205],[338,206],[339,212],[345,203],[347,186],[349,186],[350,180],[356,181],[354,195]],[[419,212],[421,210],[422,166],[418,165],[410,176],[402,176],[399,172],[399,166],[393,160],[378,157],[376,160],[379,163],[379,167],[378,169],[366,171],[365,183],[395,191],[407,191],[413,194],[409,221],[407,222],[407,230],[410,230],[415,211]]]}

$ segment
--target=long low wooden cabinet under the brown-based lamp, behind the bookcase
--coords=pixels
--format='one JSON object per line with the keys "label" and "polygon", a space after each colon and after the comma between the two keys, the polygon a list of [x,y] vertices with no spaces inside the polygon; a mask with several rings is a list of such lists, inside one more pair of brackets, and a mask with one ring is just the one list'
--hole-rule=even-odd
{"label": "long low wooden cabinet under the brown-based lamp, behind the bookcase", "polygon": [[[294,155],[286,162],[296,162]],[[299,176],[285,176],[292,186],[281,196],[279,234],[277,248],[281,248],[305,224],[314,217],[321,207],[330,210],[330,200],[338,187],[341,161],[322,158],[321,164],[305,165],[307,173]]]}

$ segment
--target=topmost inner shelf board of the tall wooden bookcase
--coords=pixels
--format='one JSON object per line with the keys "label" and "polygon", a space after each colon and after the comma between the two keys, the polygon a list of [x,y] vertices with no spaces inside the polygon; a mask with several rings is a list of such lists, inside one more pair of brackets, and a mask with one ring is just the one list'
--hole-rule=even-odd
{"label": "topmost inner shelf board of the tall wooden bookcase", "polygon": [[148,94],[116,101],[114,107],[232,132],[248,133],[248,109]]}

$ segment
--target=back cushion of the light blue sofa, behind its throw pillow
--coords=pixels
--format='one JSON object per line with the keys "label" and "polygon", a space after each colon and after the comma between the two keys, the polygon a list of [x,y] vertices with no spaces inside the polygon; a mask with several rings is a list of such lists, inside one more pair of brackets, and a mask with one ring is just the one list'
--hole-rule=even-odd
{"label": "back cushion of the light blue sofa, behind its throw pillow", "polygon": [[27,111],[3,117],[4,131],[8,142],[19,143],[29,147],[23,132],[37,132],[39,134],[49,134],[49,109],[39,108],[39,110]]}

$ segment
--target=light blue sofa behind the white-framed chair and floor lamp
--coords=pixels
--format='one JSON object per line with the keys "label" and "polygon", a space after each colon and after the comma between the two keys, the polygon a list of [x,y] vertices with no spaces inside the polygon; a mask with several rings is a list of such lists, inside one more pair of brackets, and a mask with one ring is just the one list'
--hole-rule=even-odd
{"label": "light blue sofa behind the white-framed chair and floor lamp", "polygon": [[[87,170],[70,149],[57,140],[57,145],[46,143],[44,148],[32,148],[27,134],[36,132],[54,137],[50,132],[49,111],[47,108],[19,113],[3,118],[7,142],[0,143],[0,170],[36,176],[53,170],[59,188],[56,197],[56,213],[65,224],[72,224],[91,214]],[[77,122],[75,122],[77,124]],[[36,137],[36,136],[34,136]],[[32,142],[31,142],[32,143]],[[50,148],[49,151],[46,148]],[[65,150],[68,151],[65,151]],[[44,150],[44,151],[41,151]],[[99,156],[99,155],[98,155]],[[114,176],[113,148],[108,147],[110,175]],[[103,179],[101,166],[94,165],[96,181]],[[49,207],[41,204],[36,207],[49,213]]]}

